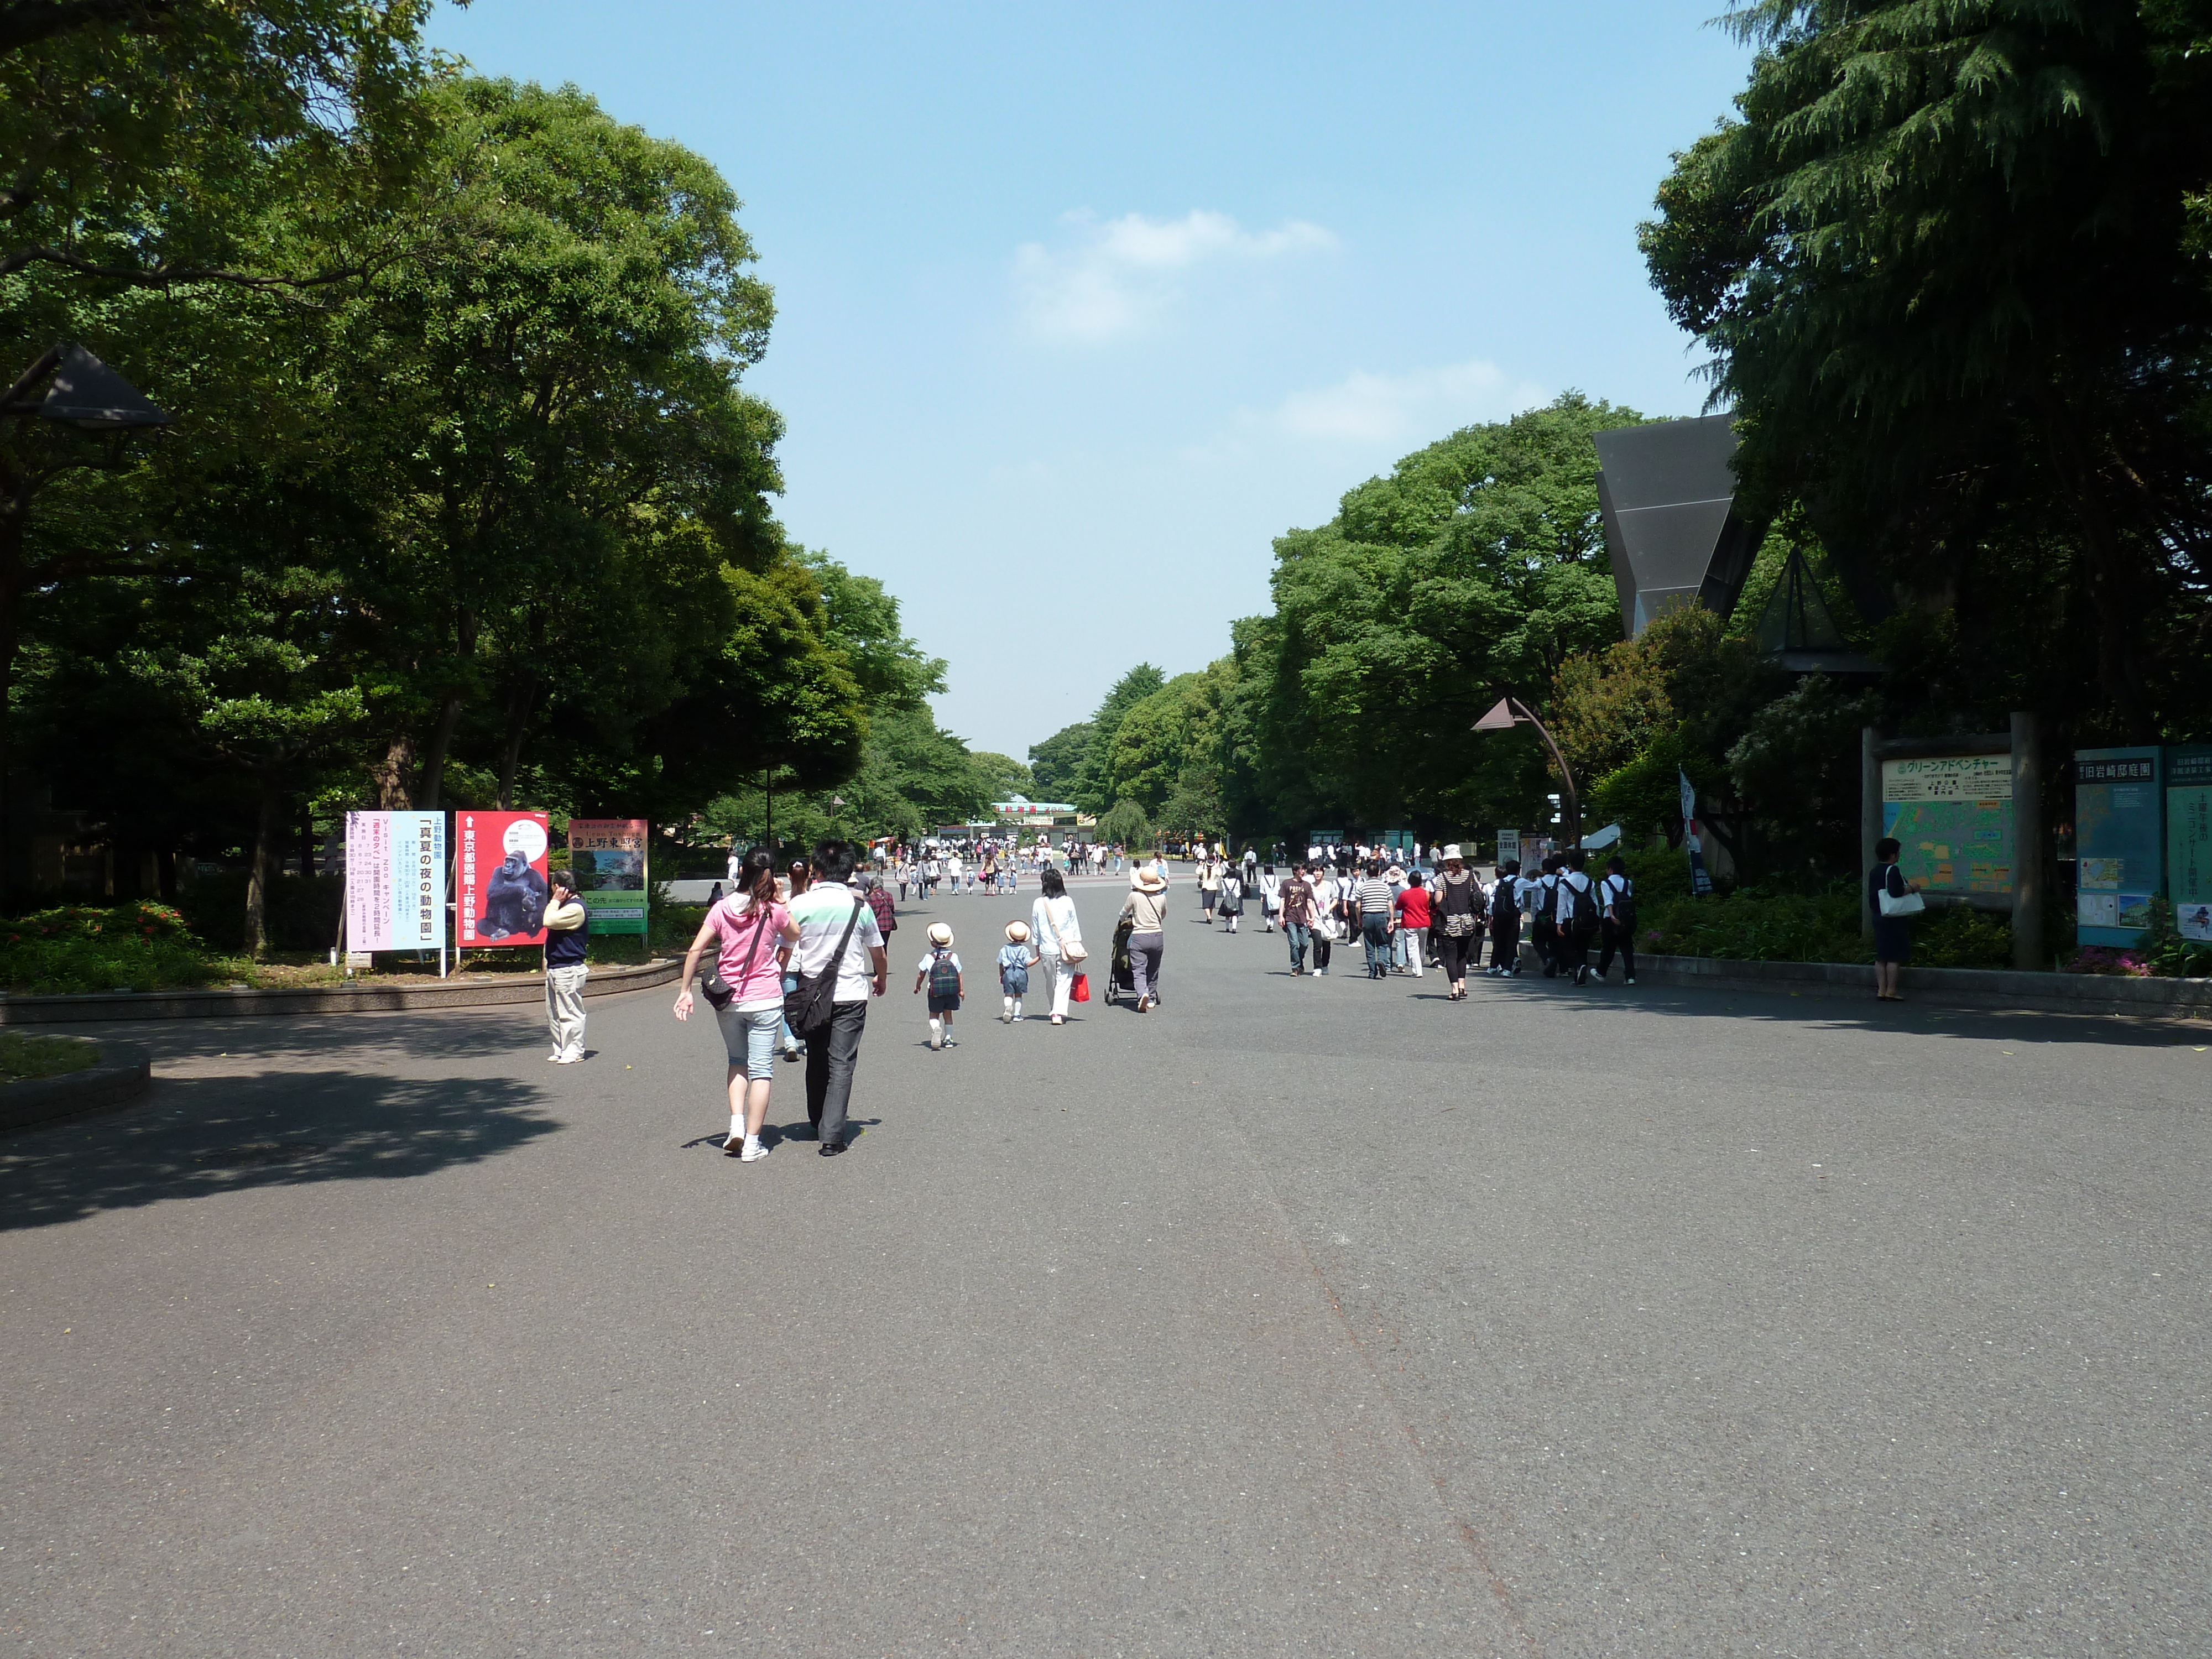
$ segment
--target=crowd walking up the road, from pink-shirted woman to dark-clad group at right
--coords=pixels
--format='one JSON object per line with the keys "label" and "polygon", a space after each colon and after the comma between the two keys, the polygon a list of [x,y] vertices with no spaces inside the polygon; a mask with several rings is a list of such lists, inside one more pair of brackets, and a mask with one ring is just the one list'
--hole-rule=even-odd
{"label": "crowd walking up the road, from pink-shirted woman to dark-clad group at right", "polygon": [[[1121,849],[1093,849],[1084,858],[1097,874]],[[1467,998],[1467,973],[1482,962],[1491,940],[1493,975],[1522,973],[1520,940],[1528,940],[1544,978],[1575,984],[1604,982],[1619,956],[1635,984],[1635,883],[1619,858],[1593,876],[1582,849],[1553,854],[1537,874],[1517,863],[1482,880],[1458,845],[1433,849],[1433,865],[1383,852],[1367,858],[1327,858],[1321,849],[1305,863],[1276,869],[1254,849],[1228,858],[1225,849],[1197,849],[1197,918],[1208,927],[1239,931],[1256,916],[1259,931],[1283,931],[1290,971],[1327,975],[1332,949],[1358,940],[1367,978],[1391,973],[1425,975],[1436,967],[1449,980],[1449,1000]],[[812,858],[781,872],[763,849],[732,858],[730,891],[719,896],[684,956],[675,1018],[690,1020],[697,998],[714,1011],[728,1071],[723,1077],[730,1130],[723,1150],[741,1161],[768,1155],[763,1124],[774,1086],[776,1055],[805,1060],[807,1124],[821,1157],[845,1150],[845,1124],[854,1071],[867,1029],[867,1006],[889,989],[889,938],[898,911],[889,887],[927,898],[938,883],[958,883],[969,872],[958,854],[927,849],[916,858],[894,856],[880,872],[860,869],[860,849],[847,841],[823,841]],[[1071,860],[1073,863],[1073,860]],[[984,854],[980,891],[1011,891],[1000,878],[1022,867],[1009,849],[1004,860]],[[1048,1020],[1060,1026],[1073,1002],[1088,1000],[1082,918],[1068,896],[1060,858],[1033,854],[1037,898],[1026,920],[1006,922],[995,949],[1000,1020],[1026,1018],[1033,975],[1048,998]],[[1077,865],[1082,867],[1082,865]],[[1126,978],[1137,1011],[1161,1006],[1159,978],[1168,933],[1166,863],[1155,854],[1135,860],[1115,927],[1115,984]],[[958,891],[958,887],[956,887]],[[1590,945],[1601,942],[1597,967]],[[1312,958],[1312,969],[1307,969]],[[706,973],[701,978],[701,967]],[[697,993],[695,993],[697,984]],[[916,962],[914,995],[927,993],[929,1048],[958,1046],[956,1015],[967,1002],[967,964],[960,960],[951,922],[931,922],[927,947]],[[580,1042],[580,1026],[577,1026]]]}

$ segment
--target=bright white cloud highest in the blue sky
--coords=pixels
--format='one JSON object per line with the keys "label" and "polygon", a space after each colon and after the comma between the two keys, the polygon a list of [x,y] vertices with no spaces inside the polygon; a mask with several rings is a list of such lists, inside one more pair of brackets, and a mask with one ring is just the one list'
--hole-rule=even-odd
{"label": "bright white cloud highest in the blue sky", "polygon": [[1192,208],[1181,219],[1071,212],[1066,248],[1022,243],[1013,281],[1029,325],[1048,338],[1110,341],[1148,327],[1181,296],[1181,279],[1206,263],[1267,261],[1325,252],[1336,237],[1303,219],[1245,230],[1225,212]]}

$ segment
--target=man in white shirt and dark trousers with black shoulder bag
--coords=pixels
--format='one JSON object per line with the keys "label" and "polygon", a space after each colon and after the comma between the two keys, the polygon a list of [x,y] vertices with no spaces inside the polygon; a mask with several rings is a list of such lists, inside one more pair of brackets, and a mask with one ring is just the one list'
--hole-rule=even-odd
{"label": "man in white shirt and dark trousers with black shoulder bag", "polygon": [[792,920],[799,922],[792,969],[799,984],[790,1000],[801,1004],[801,1013],[812,1004],[812,1024],[799,1026],[799,1037],[807,1044],[807,1121],[814,1124],[823,1157],[845,1150],[845,1115],[860,1064],[867,1000],[880,998],[891,980],[883,929],[849,880],[852,843],[816,843],[814,885],[792,900]]}

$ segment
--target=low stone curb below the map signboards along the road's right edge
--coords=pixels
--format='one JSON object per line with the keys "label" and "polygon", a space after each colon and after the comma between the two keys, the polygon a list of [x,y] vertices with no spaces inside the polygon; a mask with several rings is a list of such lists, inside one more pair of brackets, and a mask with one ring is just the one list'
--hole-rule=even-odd
{"label": "low stone curb below the map signboards along the road's right edge", "polygon": [[[1736,962],[1710,956],[1637,953],[1637,980],[1703,984],[1714,991],[1818,991],[1874,1000],[1867,962]],[[2212,980],[2124,980],[2104,973],[2017,973],[2013,969],[1916,969],[1900,989],[1922,1002],[2033,1013],[2126,1013],[2146,1020],[2212,1018]]]}

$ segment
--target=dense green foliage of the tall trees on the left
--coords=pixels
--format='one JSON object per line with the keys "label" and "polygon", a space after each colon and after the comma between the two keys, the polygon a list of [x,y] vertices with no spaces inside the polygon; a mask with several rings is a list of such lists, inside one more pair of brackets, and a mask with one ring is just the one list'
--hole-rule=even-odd
{"label": "dense green foliage of the tall trees on the left", "polygon": [[347,807],[706,836],[852,783],[865,830],[1026,776],[776,524],[774,305],[701,157],[456,73],[416,0],[15,11],[53,27],[0,27],[4,358],[82,341],[177,416],[0,431],[0,772],[119,867],[246,849],[259,951]]}

